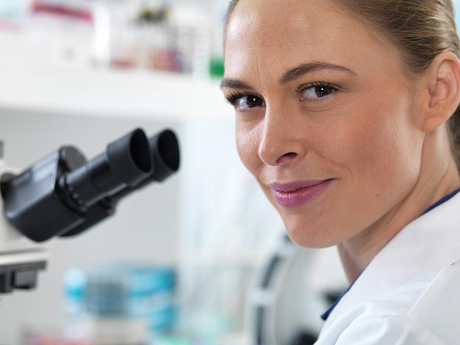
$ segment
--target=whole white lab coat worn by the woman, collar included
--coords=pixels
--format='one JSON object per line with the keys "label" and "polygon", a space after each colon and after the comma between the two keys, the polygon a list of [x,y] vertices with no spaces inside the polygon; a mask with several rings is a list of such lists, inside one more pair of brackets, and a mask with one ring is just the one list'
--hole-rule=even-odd
{"label": "whole white lab coat worn by the woman, collar included", "polygon": [[460,193],[404,227],[315,345],[460,345]]}

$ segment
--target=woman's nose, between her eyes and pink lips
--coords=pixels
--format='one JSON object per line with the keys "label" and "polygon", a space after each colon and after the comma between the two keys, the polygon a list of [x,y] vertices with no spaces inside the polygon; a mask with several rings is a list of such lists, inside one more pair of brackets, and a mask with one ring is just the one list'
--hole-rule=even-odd
{"label": "woman's nose, between her eyes and pink lips", "polygon": [[260,159],[267,165],[284,166],[301,160],[305,154],[302,126],[267,111],[259,143]]}

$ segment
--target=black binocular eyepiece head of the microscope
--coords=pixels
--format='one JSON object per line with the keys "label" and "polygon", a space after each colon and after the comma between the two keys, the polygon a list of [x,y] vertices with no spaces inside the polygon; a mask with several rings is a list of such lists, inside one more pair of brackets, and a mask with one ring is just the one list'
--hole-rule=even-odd
{"label": "black binocular eyepiece head of the microscope", "polygon": [[148,139],[136,129],[90,161],[76,148],[63,147],[19,176],[2,176],[5,215],[36,242],[74,235],[109,217],[116,202],[134,190],[177,172],[179,162],[171,130]]}

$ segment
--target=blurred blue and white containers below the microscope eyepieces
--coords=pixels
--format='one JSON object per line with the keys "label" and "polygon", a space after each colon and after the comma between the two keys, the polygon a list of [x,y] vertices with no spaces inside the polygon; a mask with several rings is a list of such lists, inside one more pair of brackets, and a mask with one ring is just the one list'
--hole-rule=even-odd
{"label": "blurred blue and white containers below the microscope eyepieces", "polygon": [[[176,322],[176,274],[168,267],[132,264],[73,269],[65,276],[68,328],[95,345],[124,335],[123,345],[139,345],[170,332]],[[76,325],[76,326],[75,326]]]}

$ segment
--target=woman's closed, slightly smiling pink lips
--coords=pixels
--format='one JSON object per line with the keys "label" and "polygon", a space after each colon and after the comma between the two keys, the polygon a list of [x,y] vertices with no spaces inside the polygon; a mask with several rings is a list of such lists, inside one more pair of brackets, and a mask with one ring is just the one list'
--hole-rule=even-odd
{"label": "woman's closed, slightly smiling pink lips", "polygon": [[320,196],[335,179],[271,184],[269,187],[280,206],[296,207]]}

